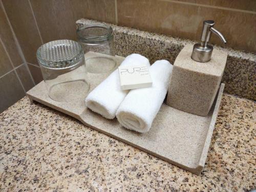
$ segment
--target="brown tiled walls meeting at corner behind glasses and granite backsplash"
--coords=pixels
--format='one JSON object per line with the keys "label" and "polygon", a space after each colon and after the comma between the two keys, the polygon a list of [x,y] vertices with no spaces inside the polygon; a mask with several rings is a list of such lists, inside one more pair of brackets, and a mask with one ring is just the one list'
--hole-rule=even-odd
{"label": "brown tiled walls meeting at corner behind glasses and granite backsplash", "polygon": [[[255,0],[0,0],[0,3],[0,88],[4,90],[0,99],[8,100],[1,103],[0,112],[42,80],[37,48],[51,40],[75,40],[75,21],[79,18],[195,40],[200,38],[203,20],[213,19],[216,29],[228,41],[226,46],[256,52]],[[214,35],[211,42],[222,45]],[[10,97],[9,89],[16,89],[15,96]]]}

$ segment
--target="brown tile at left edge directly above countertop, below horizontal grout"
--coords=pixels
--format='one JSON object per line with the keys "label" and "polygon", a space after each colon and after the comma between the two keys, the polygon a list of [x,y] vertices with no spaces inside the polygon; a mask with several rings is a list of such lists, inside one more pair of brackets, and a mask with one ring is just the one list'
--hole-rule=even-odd
{"label": "brown tile at left edge directly above countertop, below horizontal grout", "polygon": [[14,71],[0,78],[0,113],[25,96]]}

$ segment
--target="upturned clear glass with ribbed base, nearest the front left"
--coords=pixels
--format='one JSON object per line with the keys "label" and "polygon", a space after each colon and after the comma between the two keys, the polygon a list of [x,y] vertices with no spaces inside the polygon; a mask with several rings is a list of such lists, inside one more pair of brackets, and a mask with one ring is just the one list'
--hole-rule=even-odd
{"label": "upturned clear glass with ribbed base, nearest the front left", "polygon": [[51,99],[77,102],[90,89],[81,45],[73,40],[54,40],[36,52],[42,76]]}

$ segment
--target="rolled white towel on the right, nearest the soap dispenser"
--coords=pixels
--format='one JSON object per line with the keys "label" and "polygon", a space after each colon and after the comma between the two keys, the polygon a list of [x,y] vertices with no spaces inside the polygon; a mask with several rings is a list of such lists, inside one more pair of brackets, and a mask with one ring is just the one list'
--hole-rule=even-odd
{"label": "rolled white towel on the right, nearest the soap dispenser", "polygon": [[126,95],[116,114],[120,124],[140,133],[150,130],[167,93],[172,70],[167,60],[158,60],[150,67],[153,86],[134,89]]}

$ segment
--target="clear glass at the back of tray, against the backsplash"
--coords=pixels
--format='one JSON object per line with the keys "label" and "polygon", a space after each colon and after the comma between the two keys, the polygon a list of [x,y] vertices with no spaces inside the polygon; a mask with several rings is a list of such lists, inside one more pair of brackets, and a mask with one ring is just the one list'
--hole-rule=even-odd
{"label": "clear glass at the back of tray, against the backsplash", "polygon": [[77,38],[86,53],[89,73],[108,73],[116,67],[113,29],[104,24],[84,25]]}

